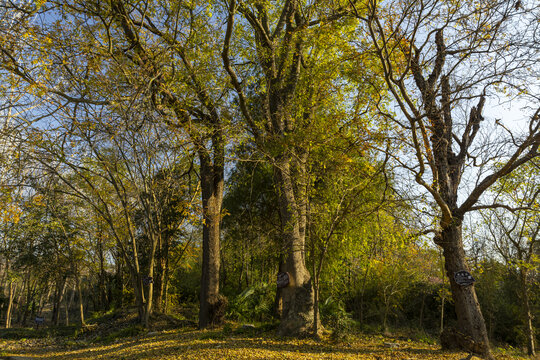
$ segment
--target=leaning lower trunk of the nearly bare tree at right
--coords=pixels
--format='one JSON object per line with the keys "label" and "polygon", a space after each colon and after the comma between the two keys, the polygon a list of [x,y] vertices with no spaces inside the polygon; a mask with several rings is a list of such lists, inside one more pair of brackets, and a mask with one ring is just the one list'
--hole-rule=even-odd
{"label": "leaning lower trunk of the nearly bare tree at right", "polygon": [[441,334],[443,348],[460,348],[491,359],[489,339],[474,285],[462,286],[454,280],[458,271],[469,271],[462,243],[461,225],[443,229],[437,243],[443,248],[446,275],[450,280],[454,299],[457,329],[445,329]]}

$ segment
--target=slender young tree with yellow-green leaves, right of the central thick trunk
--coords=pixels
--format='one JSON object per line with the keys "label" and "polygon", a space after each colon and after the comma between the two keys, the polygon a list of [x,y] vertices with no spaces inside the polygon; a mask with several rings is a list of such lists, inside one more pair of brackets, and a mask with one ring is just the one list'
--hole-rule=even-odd
{"label": "slender young tree with yellow-green leaves, right of the central thick trunk", "polygon": [[[325,131],[329,134],[325,146],[315,149],[309,162],[308,187],[307,229],[317,336],[321,329],[318,314],[321,275],[326,263],[342,255],[345,242],[360,242],[351,235],[363,227],[365,231],[368,222],[386,218],[389,215],[386,211],[392,207],[388,201],[392,197],[388,179],[383,176],[385,161],[377,163],[368,151],[358,151],[351,134],[331,127]],[[368,142],[363,145],[367,147]],[[391,226],[391,221],[388,222]]]}

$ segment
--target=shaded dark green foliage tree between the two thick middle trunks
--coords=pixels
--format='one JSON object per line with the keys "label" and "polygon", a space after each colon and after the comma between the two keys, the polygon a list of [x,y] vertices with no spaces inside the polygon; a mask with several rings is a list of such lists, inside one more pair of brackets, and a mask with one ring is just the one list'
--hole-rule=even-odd
{"label": "shaded dark green foliage tree between the two thick middle trunks", "polygon": [[[223,201],[223,286],[236,292],[273,283],[282,257],[272,168],[252,146],[237,151]],[[259,156],[257,156],[259,155]]]}

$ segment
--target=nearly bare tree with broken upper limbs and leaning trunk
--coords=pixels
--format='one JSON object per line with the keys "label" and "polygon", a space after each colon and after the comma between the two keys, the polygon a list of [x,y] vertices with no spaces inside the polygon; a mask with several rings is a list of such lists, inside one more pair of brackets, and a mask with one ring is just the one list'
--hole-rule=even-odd
{"label": "nearly bare tree with broken upper limbs and leaning trunk", "polygon": [[[517,96],[534,94],[538,8],[530,5],[371,0],[366,9],[356,9],[371,39],[361,50],[375,52],[398,109],[397,114],[383,112],[407,149],[394,153],[394,160],[412,173],[438,209],[434,242],[443,249],[458,316],[458,329],[443,333],[443,346],[488,358],[492,356],[474,286],[457,284],[454,274],[469,269],[462,243],[464,216],[496,206],[479,200],[497,179],[539,155],[540,109],[533,110],[524,134],[517,136],[498,122],[508,141],[477,144],[486,123],[486,101],[497,87]],[[485,174],[494,159],[502,166]],[[462,179],[470,168],[477,169],[472,175],[478,179],[468,189]]]}

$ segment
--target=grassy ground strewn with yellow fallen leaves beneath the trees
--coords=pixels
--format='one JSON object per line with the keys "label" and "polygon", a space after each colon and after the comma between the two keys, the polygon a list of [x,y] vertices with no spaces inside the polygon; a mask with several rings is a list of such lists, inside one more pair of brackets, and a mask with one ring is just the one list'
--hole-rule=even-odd
{"label": "grassy ground strewn with yellow fallen leaves beneath the trees", "polygon": [[[14,330],[15,331],[15,330]],[[358,335],[335,342],[279,338],[265,328],[201,331],[193,327],[145,331],[131,326],[107,336],[54,336],[20,338],[0,331],[0,358],[22,356],[43,359],[462,359],[465,353],[448,353],[438,345],[403,337]],[[13,333],[12,333],[13,335]],[[84,334],[83,334],[84,335]],[[498,359],[524,359],[496,350]]]}

